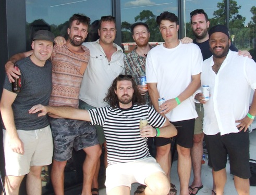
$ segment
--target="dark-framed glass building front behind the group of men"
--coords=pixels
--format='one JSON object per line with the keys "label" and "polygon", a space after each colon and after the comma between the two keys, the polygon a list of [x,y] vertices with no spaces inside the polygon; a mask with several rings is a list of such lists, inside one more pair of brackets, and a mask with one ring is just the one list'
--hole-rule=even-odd
{"label": "dark-framed glass building front behind the group of men", "polygon": [[[55,36],[65,36],[67,21],[75,13],[81,13],[91,18],[90,34],[87,41],[95,41],[97,21],[101,16],[115,16],[117,28],[115,43],[122,45],[125,53],[128,53],[135,47],[129,29],[130,24],[137,21],[147,22],[151,30],[150,42],[152,45],[157,45],[163,40],[155,23],[155,17],[163,11],[170,11],[179,18],[179,38],[184,36],[193,38],[190,12],[194,9],[204,9],[212,24],[222,23],[229,27],[233,44],[237,48],[249,50],[252,48],[252,39],[256,37],[256,21],[252,19],[252,17],[256,18],[256,12],[253,12],[256,0],[237,0],[235,2],[237,5],[234,4],[234,1],[228,0],[2,0],[0,1],[0,94],[2,94],[5,75],[4,64],[8,58],[16,53],[30,50],[31,37],[39,29],[51,30]],[[229,10],[232,9],[237,9],[237,14],[230,15],[231,11],[229,13]],[[234,22],[239,19],[240,22]],[[0,140],[2,138],[1,131]],[[83,157],[80,157],[79,153],[77,157],[74,157],[77,162],[81,158]],[[74,167],[76,170],[79,169],[79,166],[81,167],[81,163],[80,165],[72,163],[71,161],[71,170]],[[0,171],[4,176],[2,144],[0,145]],[[102,172],[100,174],[101,183],[104,182],[104,173]],[[75,178],[74,180],[77,182],[72,183],[71,187],[80,183],[79,179]],[[48,183],[50,182],[48,181]],[[47,185],[48,183],[46,182]],[[43,192],[51,194],[51,187],[47,189],[47,185]],[[21,192],[21,194],[24,193]]]}

